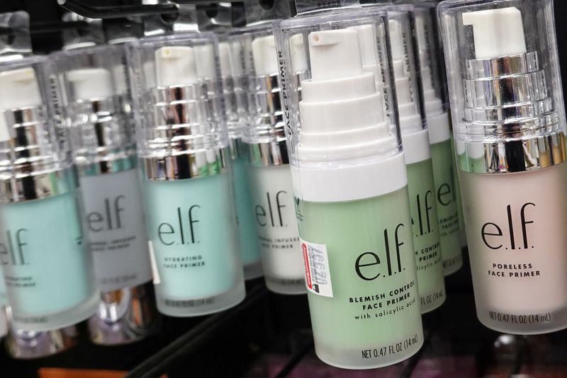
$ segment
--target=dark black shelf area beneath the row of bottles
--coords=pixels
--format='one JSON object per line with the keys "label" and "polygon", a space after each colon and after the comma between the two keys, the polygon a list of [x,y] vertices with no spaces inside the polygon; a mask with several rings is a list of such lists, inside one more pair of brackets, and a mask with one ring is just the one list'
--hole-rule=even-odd
{"label": "dark black shelf area beneath the row of bottles", "polygon": [[35,377],[40,367],[119,370],[129,378],[162,377],[562,377],[567,331],[502,335],[476,319],[468,266],[447,278],[447,301],[424,316],[425,345],[400,364],[349,371],[321,362],[313,350],[306,297],[268,292],[248,282],[237,307],[195,319],[164,317],[154,336],[116,347],[84,340],[49,358],[17,361],[0,355],[0,377]]}

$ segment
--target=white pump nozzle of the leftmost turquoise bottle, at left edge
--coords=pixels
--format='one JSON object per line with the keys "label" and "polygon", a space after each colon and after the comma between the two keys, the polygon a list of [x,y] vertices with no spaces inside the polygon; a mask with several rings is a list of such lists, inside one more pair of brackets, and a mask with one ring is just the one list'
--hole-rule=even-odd
{"label": "white pump nozzle of the leftmost turquoise bottle, at left edge", "polygon": [[31,67],[0,72],[0,109],[41,105],[41,93],[35,70]]}

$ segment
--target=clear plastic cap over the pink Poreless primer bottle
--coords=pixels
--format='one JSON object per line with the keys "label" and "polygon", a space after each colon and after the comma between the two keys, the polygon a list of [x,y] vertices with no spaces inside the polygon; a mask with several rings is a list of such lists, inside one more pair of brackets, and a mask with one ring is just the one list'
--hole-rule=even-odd
{"label": "clear plastic cap over the pink Poreless primer bottle", "polygon": [[444,1],[439,21],[458,141],[565,132],[552,0]]}

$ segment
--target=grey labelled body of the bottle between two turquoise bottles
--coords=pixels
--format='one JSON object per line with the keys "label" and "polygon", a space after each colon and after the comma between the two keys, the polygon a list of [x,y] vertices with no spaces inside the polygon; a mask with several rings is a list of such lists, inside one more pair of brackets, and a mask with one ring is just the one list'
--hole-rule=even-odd
{"label": "grey labelled body of the bottle between two turquoise bottles", "polygon": [[81,187],[99,289],[108,292],[152,280],[136,170],[84,176]]}

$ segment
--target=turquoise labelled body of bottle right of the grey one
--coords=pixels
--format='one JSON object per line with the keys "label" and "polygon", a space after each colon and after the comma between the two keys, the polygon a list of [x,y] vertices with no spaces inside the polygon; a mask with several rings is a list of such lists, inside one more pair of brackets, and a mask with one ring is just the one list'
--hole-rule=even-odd
{"label": "turquoise labelled body of bottle right of the grey one", "polygon": [[230,174],[147,182],[145,205],[160,311],[208,304],[237,285],[242,263]]}

